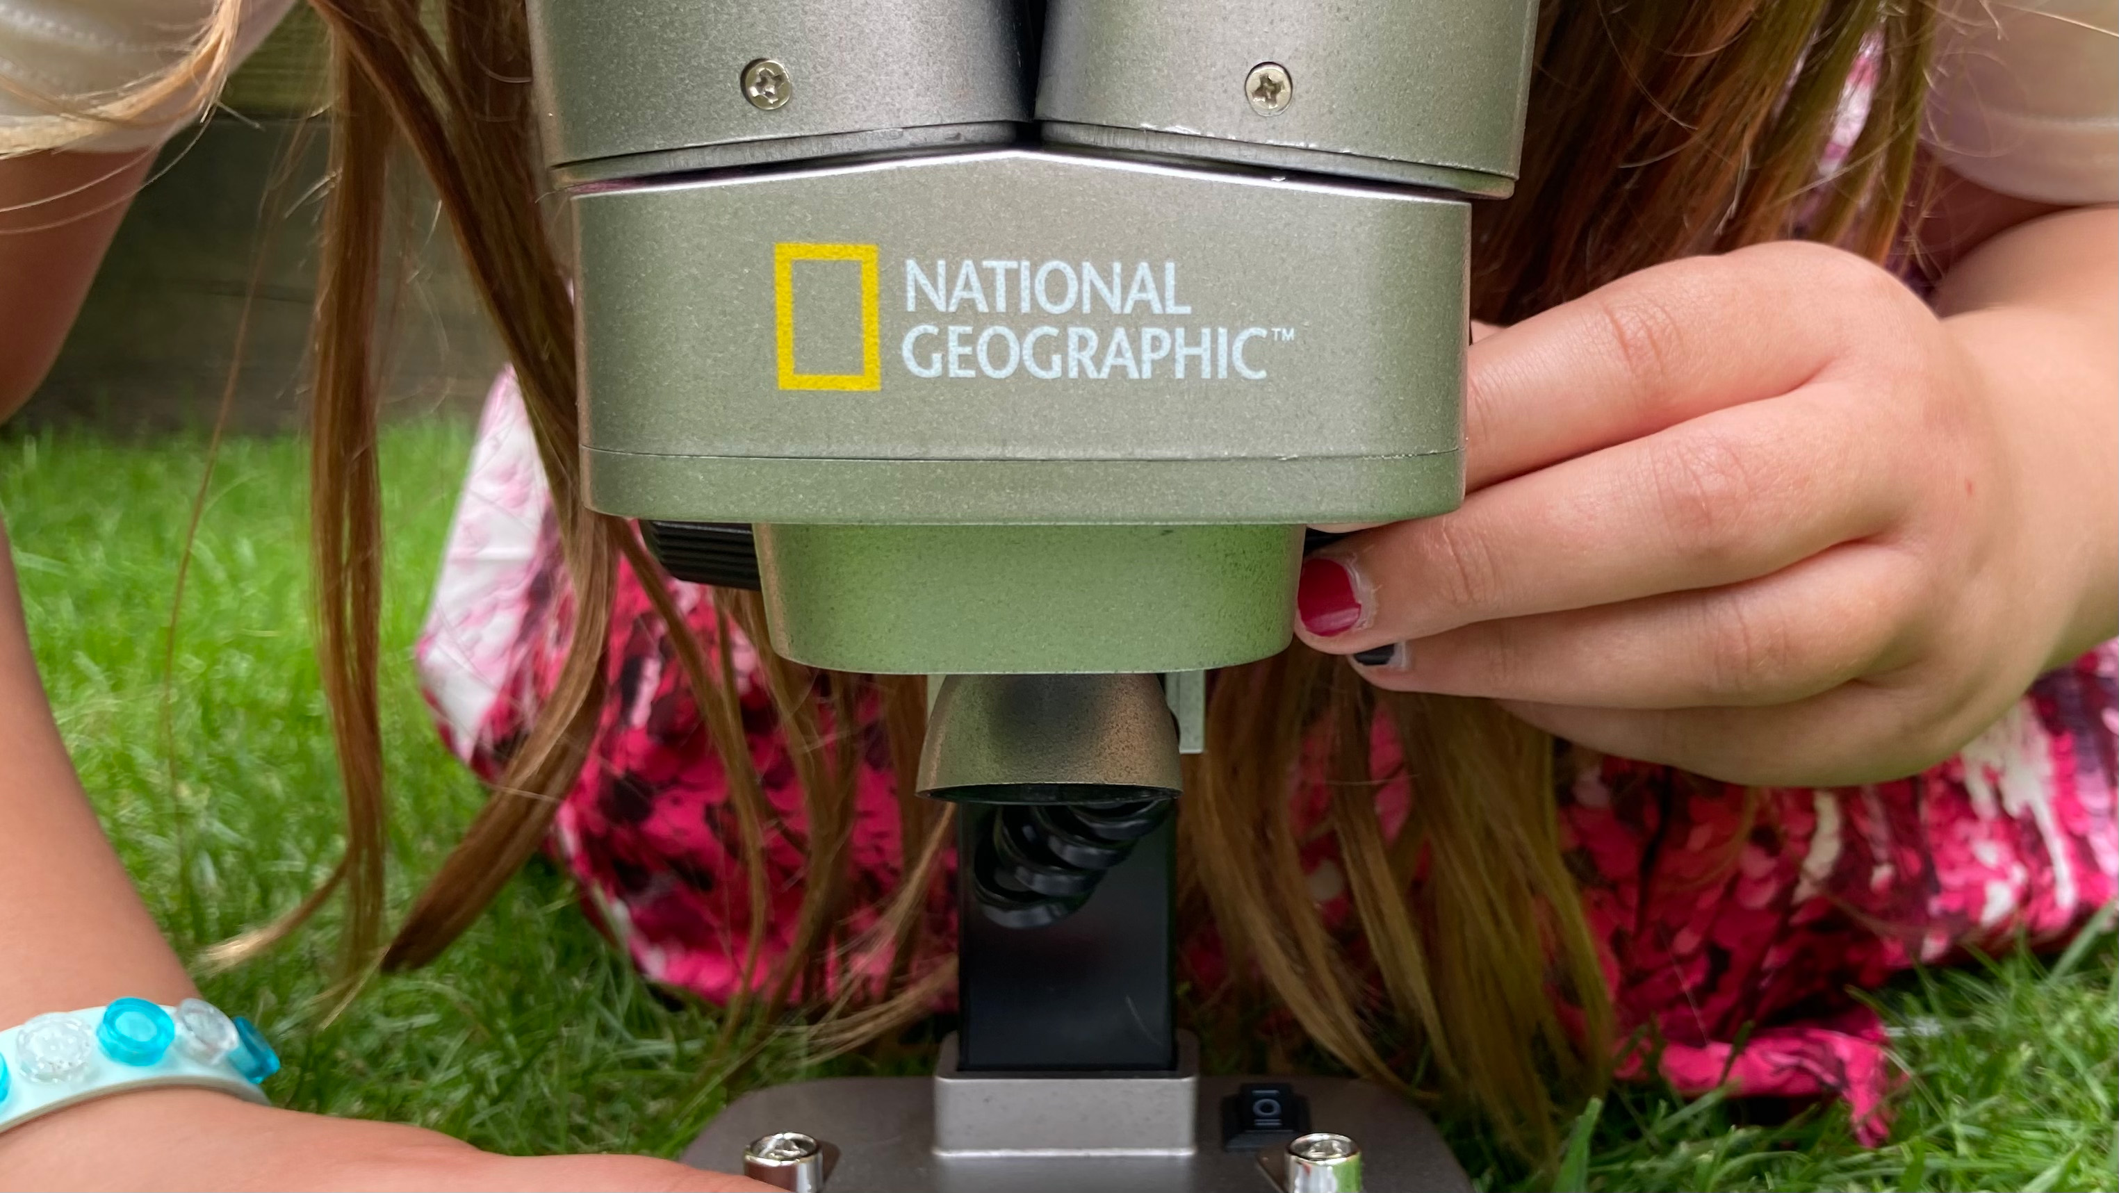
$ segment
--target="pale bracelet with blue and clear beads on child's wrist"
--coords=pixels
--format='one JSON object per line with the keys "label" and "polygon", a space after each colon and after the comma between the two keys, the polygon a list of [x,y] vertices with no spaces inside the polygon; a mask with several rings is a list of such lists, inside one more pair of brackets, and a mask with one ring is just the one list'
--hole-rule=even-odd
{"label": "pale bracelet with blue and clear beads on child's wrist", "polygon": [[159,1085],[267,1104],[259,1083],[273,1072],[280,1055],[256,1026],[203,998],[55,1011],[0,1032],[0,1132],[74,1102]]}

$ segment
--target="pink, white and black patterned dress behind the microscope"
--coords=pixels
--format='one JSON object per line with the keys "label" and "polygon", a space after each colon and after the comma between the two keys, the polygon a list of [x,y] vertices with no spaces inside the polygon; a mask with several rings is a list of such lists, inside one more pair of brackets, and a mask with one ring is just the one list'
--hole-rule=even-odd
{"label": "pink, white and black patterned dress behind the microscope", "polygon": [[[521,398],[504,375],[417,651],[443,737],[487,778],[564,653],[555,547]],[[712,651],[731,653],[765,795],[799,833],[795,767],[752,678],[750,644],[714,638],[699,589],[676,585],[672,595]],[[553,850],[646,977],[723,1000],[740,981],[748,924],[733,809],[667,636],[629,570],[606,678],[595,748],[559,807]],[[862,731],[877,748],[858,780],[854,930],[873,922],[903,860],[888,750],[873,725]],[[1653,1064],[1691,1093],[1729,1085],[1844,1096],[1865,1136],[1880,1138],[1892,1076],[1884,1026],[1846,992],[1966,949],[2053,945],[2113,903],[2115,750],[2119,642],[2043,676],[1939,767],[1858,788],[1771,788],[1748,816],[1729,784],[1566,750],[1555,799],[1619,1026],[1659,1043],[1627,1053],[1634,1074]],[[1401,773],[1384,727],[1373,754],[1373,773]],[[1295,797],[1299,816],[1318,795],[1310,786]],[[1392,805],[1407,797],[1403,778],[1379,788],[1386,824],[1403,822]],[[1343,920],[1329,833],[1314,835],[1305,862],[1326,920]],[[795,924],[803,858],[773,835],[767,865],[776,960]],[[932,947],[947,947],[951,909],[939,903],[932,918]]]}

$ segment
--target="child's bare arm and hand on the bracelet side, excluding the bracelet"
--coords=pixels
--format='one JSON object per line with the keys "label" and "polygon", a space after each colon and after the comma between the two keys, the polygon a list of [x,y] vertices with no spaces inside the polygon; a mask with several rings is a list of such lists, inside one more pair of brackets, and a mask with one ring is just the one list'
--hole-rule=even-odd
{"label": "child's bare arm and hand on the bracelet side, excluding the bracelet", "polygon": [[[0,208],[55,195],[61,180],[93,178],[108,161],[0,161]],[[121,208],[0,235],[0,420],[57,352]],[[78,214],[64,203],[47,210]],[[121,996],[176,1002],[195,994],[59,742],[30,655],[4,526],[0,848],[0,1028]],[[295,1115],[201,1089],[117,1093],[0,1134],[0,1174],[21,1189],[765,1189],[659,1159],[494,1157],[434,1132]]]}

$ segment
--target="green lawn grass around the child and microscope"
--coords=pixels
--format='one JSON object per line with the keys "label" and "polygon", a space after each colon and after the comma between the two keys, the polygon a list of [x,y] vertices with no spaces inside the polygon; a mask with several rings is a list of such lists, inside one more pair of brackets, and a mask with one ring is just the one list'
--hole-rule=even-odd
{"label": "green lawn grass around the child and microscope", "polygon": [[[396,907],[481,799],[439,746],[411,676],[466,451],[456,424],[384,437]],[[201,462],[197,439],[0,439],[0,511],[59,725],[104,826],[186,956],[292,907],[339,848],[309,655],[301,443],[222,451],[165,674]],[[201,975],[210,998],[280,1040],[282,1104],[422,1123],[509,1153],[674,1155],[729,1093],[701,1079],[712,1017],[657,1000],[551,867],[509,884],[439,964],[371,983],[326,1023],[318,994],[331,932],[326,918],[261,962]],[[2119,1189],[2115,996],[2111,937],[2058,962],[2009,956],[1911,975],[1877,994],[1911,1074],[1888,1146],[1858,1146],[1835,1106],[1776,1119],[1630,1087],[1577,1125],[1557,1185]],[[771,1068],[795,1072],[786,1060]],[[1475,1125],[1445,1129],[1483,1187],[1555,1185],[1504,1159]]]}

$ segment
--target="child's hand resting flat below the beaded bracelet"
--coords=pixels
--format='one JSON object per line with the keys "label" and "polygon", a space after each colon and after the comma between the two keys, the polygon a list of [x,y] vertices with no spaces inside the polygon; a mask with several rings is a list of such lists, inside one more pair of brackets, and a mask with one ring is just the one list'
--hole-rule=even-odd
{"label": "child's hand resting flat below the beaded bracelet", "polygon": [[0,1136],[0,1189],[420,1189],[708,1193],[761,1189],[638,1155],[506,1157],[449,1136],[150,1089],[74,1106]]}

